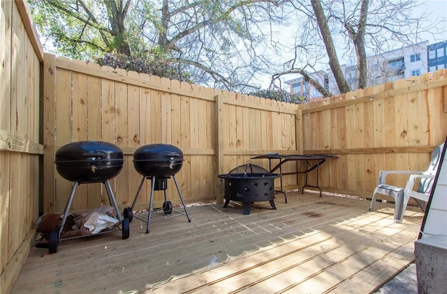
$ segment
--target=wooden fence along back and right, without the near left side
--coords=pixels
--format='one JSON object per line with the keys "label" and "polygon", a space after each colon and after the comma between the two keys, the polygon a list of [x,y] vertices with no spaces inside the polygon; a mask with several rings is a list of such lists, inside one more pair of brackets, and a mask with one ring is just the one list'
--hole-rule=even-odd
{"label": "wooden fence along back and right, without the near left side", "polygon": [[[268,168],[267,160],[251,158],[270,152],[337,155],[321,166],[320,186],[368,197],[379,170],[425,169],[447,133],[445,70],[294,105],[51,54],[45,54],[44,68],[45,212],[61,212],[66,204],[72,183],[54,171],[54,152],[73,141],[104,140],[124,150],[124,168],[112,186],[118,204],[126,207],[140,182],[132,159],[142,145],[162,142],[183,150],[177,178],[187,203],[221,202],[217,175],[247,161]],[[283,172],[302,168],[286,164]],[[286,175],[283,184],[299,188],[303,180]],[[405,178],[390,180],[403,185]],[[312,172],[309,182],[315,181]],[[75,197],[73,210],[108,202],[101,184],[81,185],[77,193],[82,196]],[[172,184],[168,195],[179,203]],[[155,199],[161,206],[163,193]]]}

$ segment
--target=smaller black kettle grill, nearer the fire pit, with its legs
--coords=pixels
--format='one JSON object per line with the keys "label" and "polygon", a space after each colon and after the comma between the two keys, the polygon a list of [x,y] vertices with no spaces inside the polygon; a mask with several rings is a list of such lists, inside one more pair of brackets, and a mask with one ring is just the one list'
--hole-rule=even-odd
{"label": "smaller black kettle grill, nearer the fire pit, with its legs", "polygon": [[166,196],[166,189],[168,188],[168,179],[173,177],[177,192],[179,193],[180,200],[184,207],[186,218],[189,222],[189,214],[186,211],[186,205],[183,200],[182,192],[179,189],[179,184],[175,178],[175,174],[179,172],[183,165],[183,152],[178,147],[168,144],[151,144],[145,145],[135,150],[133,153],[133,167],[142,175],[140,186],[135,194],[132,207],[126,207],[124,209],[124,217],[133,219],[133,208],[140,196],[142,185],[145,179],[151,179],[152,188],[149,200],[149,211],[147,216],[147,228],[146,233],[149,233],[150,220],[152,216],[152,205],[154,200],[154,191],[164,192],[163,212],[165,214],[171,214],[173,212],[173,204],[168,201]]}

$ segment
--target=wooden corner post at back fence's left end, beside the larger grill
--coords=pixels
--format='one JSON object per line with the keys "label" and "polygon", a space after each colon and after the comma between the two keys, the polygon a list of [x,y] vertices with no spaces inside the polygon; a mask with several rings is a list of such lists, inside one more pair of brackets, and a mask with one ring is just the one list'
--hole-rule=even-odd
{"label": "wooden corner post at back fence's left end, beside the larger grill", "polygon": [[56,57],[43,55],[43,213],[54,213],[54,96]]}

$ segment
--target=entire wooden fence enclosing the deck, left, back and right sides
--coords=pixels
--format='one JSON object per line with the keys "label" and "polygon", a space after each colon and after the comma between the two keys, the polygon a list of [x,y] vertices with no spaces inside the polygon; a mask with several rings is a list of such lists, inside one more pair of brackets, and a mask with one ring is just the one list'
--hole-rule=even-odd
{"label": "entire wooden fence enclosing the deck, left, back and right sides", "polygon": [[[427,73],[305,105],[278,103],[43,54],[24,1],[0,13],[0,292],[7,293],[34,237],[39,212],[61,212],[71,182],[54,169],[59,147],[104,140],[125,154],[112,186],[131,205],[140,175],[133,152],[157,142],[184,152],[177,174],[186,202],[221,202],[220,173],[260,154],[335,154],[323,189],[368,197],[379,170],[423,170],[447,134],[447,71]],[[43,154],[43,156],[42,156]],[[286,164],[283,172],[302,168]],[[315,181],[315,172],[309,181]],[[391,177],[404,185],[404,177]],[[286,189],[303,178],[284,176]],[[275,182],[279,185],[279,180]],[[149,183],[138,207],[146,207]],[[101,184],[82,184],[72,210],[107,203]],[[179,203],[173,183],[168,196]],[[157,192],[154,205],[163,195]]]}

